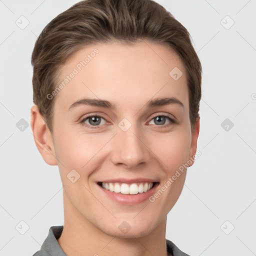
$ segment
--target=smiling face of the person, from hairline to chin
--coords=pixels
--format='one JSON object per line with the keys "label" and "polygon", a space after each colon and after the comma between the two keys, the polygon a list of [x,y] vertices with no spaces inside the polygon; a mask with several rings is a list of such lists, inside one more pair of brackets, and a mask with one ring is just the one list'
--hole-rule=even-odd
{"label": "smiling face of the person, from hairline to chin", "polygon": [[65,218],[115,236],[124,235],[120,224],[126,237],[149,234],[178,199],[186,169],[171,177],[196,152],[182,61],[166,45],[112,42],[80,49],[60,71],[59,82],[70,79],[53,93],[52,152]]}

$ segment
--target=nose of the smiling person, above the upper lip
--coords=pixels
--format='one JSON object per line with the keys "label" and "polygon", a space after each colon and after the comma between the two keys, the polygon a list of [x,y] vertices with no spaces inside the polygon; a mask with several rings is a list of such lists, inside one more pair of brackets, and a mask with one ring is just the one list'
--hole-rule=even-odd
{"label": "nose of the smiling person, above the upper lip", "polygon": [[123,131],[117,127],[117,134],[112,141],[113,149],[111,159],[114,164],[124,165],[126,168],[134,168],[150,159],[150,149],[147,147],[145,136],[136,125]]}

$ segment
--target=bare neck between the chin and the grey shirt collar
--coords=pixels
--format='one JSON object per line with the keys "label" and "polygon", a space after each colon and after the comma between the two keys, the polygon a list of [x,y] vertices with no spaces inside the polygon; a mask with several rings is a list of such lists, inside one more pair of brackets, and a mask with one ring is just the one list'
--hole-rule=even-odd
{"label": "bare neck between the chin and the grey shirt collar", "polygon": [[[165,229],[167,216],[152,232],[119,237],[103,232],[75,209],[64,196],[64,225],[57,239],[67,255],[72,256],[167,256]],[[148,223],[150,225],[150,223]]]}

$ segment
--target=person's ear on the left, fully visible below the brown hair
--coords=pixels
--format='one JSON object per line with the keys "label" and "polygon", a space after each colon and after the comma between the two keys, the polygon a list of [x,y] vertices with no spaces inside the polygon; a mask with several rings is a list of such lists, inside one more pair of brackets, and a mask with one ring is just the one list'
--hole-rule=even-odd
{"label": "person's ear on the left, fully visible below the brown hair", "polygon": [[43,160],[49,165],[57,165],[52,135],[39,113],[37,105],[31,107],[30,125],[33,131],[35,145],[42,155]]}

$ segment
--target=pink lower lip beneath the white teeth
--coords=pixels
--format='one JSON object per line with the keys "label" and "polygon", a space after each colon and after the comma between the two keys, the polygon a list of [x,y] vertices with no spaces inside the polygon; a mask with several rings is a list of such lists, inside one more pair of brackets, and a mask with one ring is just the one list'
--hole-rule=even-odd
{"label": "pink lower lip beneath the white teeth", "polygon": [[155,192],[158,185],[159,183],[155,183],[154,186],[146,192],[137,193],[137,194],[122,194],[122,193],[111,192],[103,188],[99,184],[97,184],[97,186],[99,186],[99,188],[101,188],[101,190],[107,196],[109,196],[112,200],[121,204],[126,204],[126,205],[138,204],[145,201]]}

